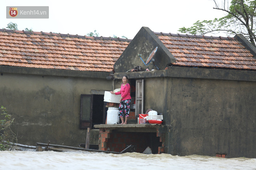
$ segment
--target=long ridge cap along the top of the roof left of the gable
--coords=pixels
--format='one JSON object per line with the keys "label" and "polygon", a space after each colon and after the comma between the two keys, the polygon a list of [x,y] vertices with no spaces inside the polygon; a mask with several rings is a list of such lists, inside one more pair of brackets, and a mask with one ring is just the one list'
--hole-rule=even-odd
{"label": "long ridge cap along the top of the roof left of the gable", "polygon": [[13,33],[19,33],[19,34],[41,34],[41,35],[50,35],[50,36],[61,36],[61,37],[76,37],[76,38],[83,38],[83,39],[104,39],[104,40],[114,40],[114,41],[127,41],[127,42],[131,42],[132,39],[124,39],[124,38],[112,38],[112,37],[95,37],[95,36],[79,36],[78,34],[76,35],[72,35],[72,34],[61,34],[61,33],[54,33],[54,32],[36,32],[36,31],[19,31],[19,30],[15,30],[15,29],[0,29],[0,32],[13,32]]}

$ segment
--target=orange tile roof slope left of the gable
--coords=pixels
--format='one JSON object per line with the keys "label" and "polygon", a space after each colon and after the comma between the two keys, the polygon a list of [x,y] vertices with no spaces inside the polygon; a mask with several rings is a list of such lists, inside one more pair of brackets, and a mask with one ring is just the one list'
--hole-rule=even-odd
{"label": "orange tile roof slope left of the gable", "polygon": [[0,29],[0,65],[109,72],[130,41]]}

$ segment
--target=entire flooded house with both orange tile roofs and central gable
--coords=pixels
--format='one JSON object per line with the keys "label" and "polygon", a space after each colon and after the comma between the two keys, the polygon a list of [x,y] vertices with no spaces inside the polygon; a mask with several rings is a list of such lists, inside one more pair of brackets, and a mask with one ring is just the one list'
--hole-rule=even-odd
{"label": "entire flooded house with both orange tile roofs and central gable", "polygon": [[[77,146],[90,127],[99,150],[256,158],[256,48],[242,35],[142,27],[128,40],[0,29],[0,47],[1,105],[20,143]],[[104,92],[124,75],[135,110],[126,125],[105,124]],[[137,124],[148,109],[163,123]]]}

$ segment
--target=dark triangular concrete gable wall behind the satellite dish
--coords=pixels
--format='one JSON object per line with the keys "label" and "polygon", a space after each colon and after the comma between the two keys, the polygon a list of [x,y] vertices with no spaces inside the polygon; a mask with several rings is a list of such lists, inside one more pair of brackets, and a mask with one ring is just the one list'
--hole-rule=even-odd
{"label": "dark triangular concrete gable wall behind the satellite dish", "polygon": [[154,55],[155,65],[160,70],[164,70],[166,65],[176,61],[171,52],[164,46],[163,42],[158,39],[156,34],[154,34],[148,27],[142,27],[115,62],[115,72],[126,72],[136,66],[142,66],[144,70],[147,68],[149,70],[157,69],[153,62],[150,62],[148,65],[144,64],[156,47],[157,51]]}

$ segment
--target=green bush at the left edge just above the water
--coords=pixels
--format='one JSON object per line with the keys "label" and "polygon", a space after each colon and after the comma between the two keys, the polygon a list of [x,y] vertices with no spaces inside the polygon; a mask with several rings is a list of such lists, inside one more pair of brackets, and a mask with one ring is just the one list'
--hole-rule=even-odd
{"label": "green bush at the left edge just above the water", "polygon": [[0,114],[0,151],[9,150],[10,142],[17,141],[16,135],[12,131],[14,118],[6,111],[6,108],[1,106],[2,113]]}

